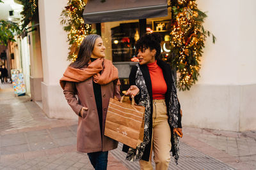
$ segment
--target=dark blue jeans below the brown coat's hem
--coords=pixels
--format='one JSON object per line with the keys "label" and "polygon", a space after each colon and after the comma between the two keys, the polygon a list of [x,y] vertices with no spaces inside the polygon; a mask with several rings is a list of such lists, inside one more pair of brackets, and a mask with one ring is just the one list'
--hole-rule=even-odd
{"label": "dark blue jeans below the brown coat's hem", "polygon": [[87,153],[95,170],[106,170],[108,166],[108,151]]}

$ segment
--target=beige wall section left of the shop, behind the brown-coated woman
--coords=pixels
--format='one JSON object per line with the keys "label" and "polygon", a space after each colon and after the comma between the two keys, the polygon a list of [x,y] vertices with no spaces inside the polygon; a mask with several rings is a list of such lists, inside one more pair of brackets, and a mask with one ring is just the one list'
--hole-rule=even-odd
{"label": "beige wall section left of the shop, behind the brown-coated woman", "polygon": [[61,11],[66,0],[39,0],[39,22],[44,81],[42,81],[42,108],[50,118],[77,118],[68,106],[59,81],[67,68],[67,32],[60,25]]}

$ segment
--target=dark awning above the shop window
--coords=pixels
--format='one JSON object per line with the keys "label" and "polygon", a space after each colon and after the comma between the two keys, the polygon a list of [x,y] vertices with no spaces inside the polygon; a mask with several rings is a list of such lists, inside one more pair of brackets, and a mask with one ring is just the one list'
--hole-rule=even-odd
{"label": "dark awning above the shop window", "polygon": [[167,0],[88,0],[83,18],[86,24],[165,17]]}

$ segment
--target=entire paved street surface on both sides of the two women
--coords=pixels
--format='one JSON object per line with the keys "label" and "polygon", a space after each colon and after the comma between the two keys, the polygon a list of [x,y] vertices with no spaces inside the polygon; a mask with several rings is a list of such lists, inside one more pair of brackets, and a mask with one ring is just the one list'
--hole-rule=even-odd
{"label": "entire paved street surface on both sides of the two women", "polygon": [[[15,97],[11,84],[0,88],[0,169],[93,169],[86,153],[76,152],[77,120],[47,118],[29,96]],[[183,131],[179,165],[172,158],[169,169],[256,169],[255,131]],[[140,167],[125,160],[120,143],[108,169]]]}

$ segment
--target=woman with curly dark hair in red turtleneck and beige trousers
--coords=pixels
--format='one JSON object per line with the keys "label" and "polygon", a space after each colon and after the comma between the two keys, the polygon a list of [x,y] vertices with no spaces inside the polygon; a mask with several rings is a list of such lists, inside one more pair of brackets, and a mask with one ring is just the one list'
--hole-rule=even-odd
{"label": "woman with curly dark hair in red turtleneck and beige trousers", "polygon": [[144,139],[136,148],[124,146],[127,160],[140,160],[141,169],[168,169],[170,151],[179,159],[179,137],[182,136],[181,111],[170,65],[157,59],[161,53],[161,36],[144,34],[136,43],[139,64],[133,66],[129,76],[131,87],[127,95],[137,104],[145,106]]}

